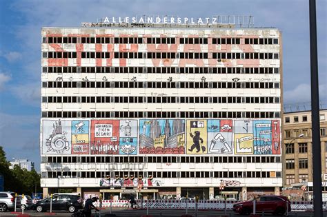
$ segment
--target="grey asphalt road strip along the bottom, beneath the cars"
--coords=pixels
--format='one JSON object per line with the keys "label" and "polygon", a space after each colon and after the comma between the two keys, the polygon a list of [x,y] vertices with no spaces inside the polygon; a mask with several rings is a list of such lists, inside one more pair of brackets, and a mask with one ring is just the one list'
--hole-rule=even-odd
{"label": "grey asphalt road strip along the bottom, beneath the cars", "polygon": [[[130,216],[130,217],[137,217],[137,216],[143,216],[146,215],[146,209],[112,209],[112,214],[115,214],[115,216]],[[149,209],[148,213],[150,216],[153,217],[180,217],[184,214],[186,214],[185,209]],[[0,216],[18,216],[21,213],[14,214],[13,212],[7,211],[5,213],[0,213]],[[24,214],[27,214],[26,216],[72,216],[72,214],[68,213],[68,211],[56,211],[54,214],[50,214],[49,212],[42,212],[38,213],[37,211],[24,211]],[[110,216],[110,209],[103,209],[101,210],[101,216]],[[217,210],[199,210],[197,214],[195,213],[195,210],[188,210],[188,214],[194,216],[194,217],[210,217],[210,216],[225,216],[225,211],[217,211]],[[95,215],[95,213],[92,213],[92,216],[99,216],[99,212]],[[112,215],[114,216],[114,215]],[[235,214],[233,211],[227,211],[228,217],[243,217],[239,214]],[[261,214],[261,216],[263,216]],[[273,216],[271,214],[264,214],[264,216]],[[307,211],[297,211],[297,212],[291,212],[288,216],[295,217],[295,216],[301,216],[301,217],[314,217],[313,212],[307,212]],[[327,212],[324,212],[324,217],[327,217]]]}

